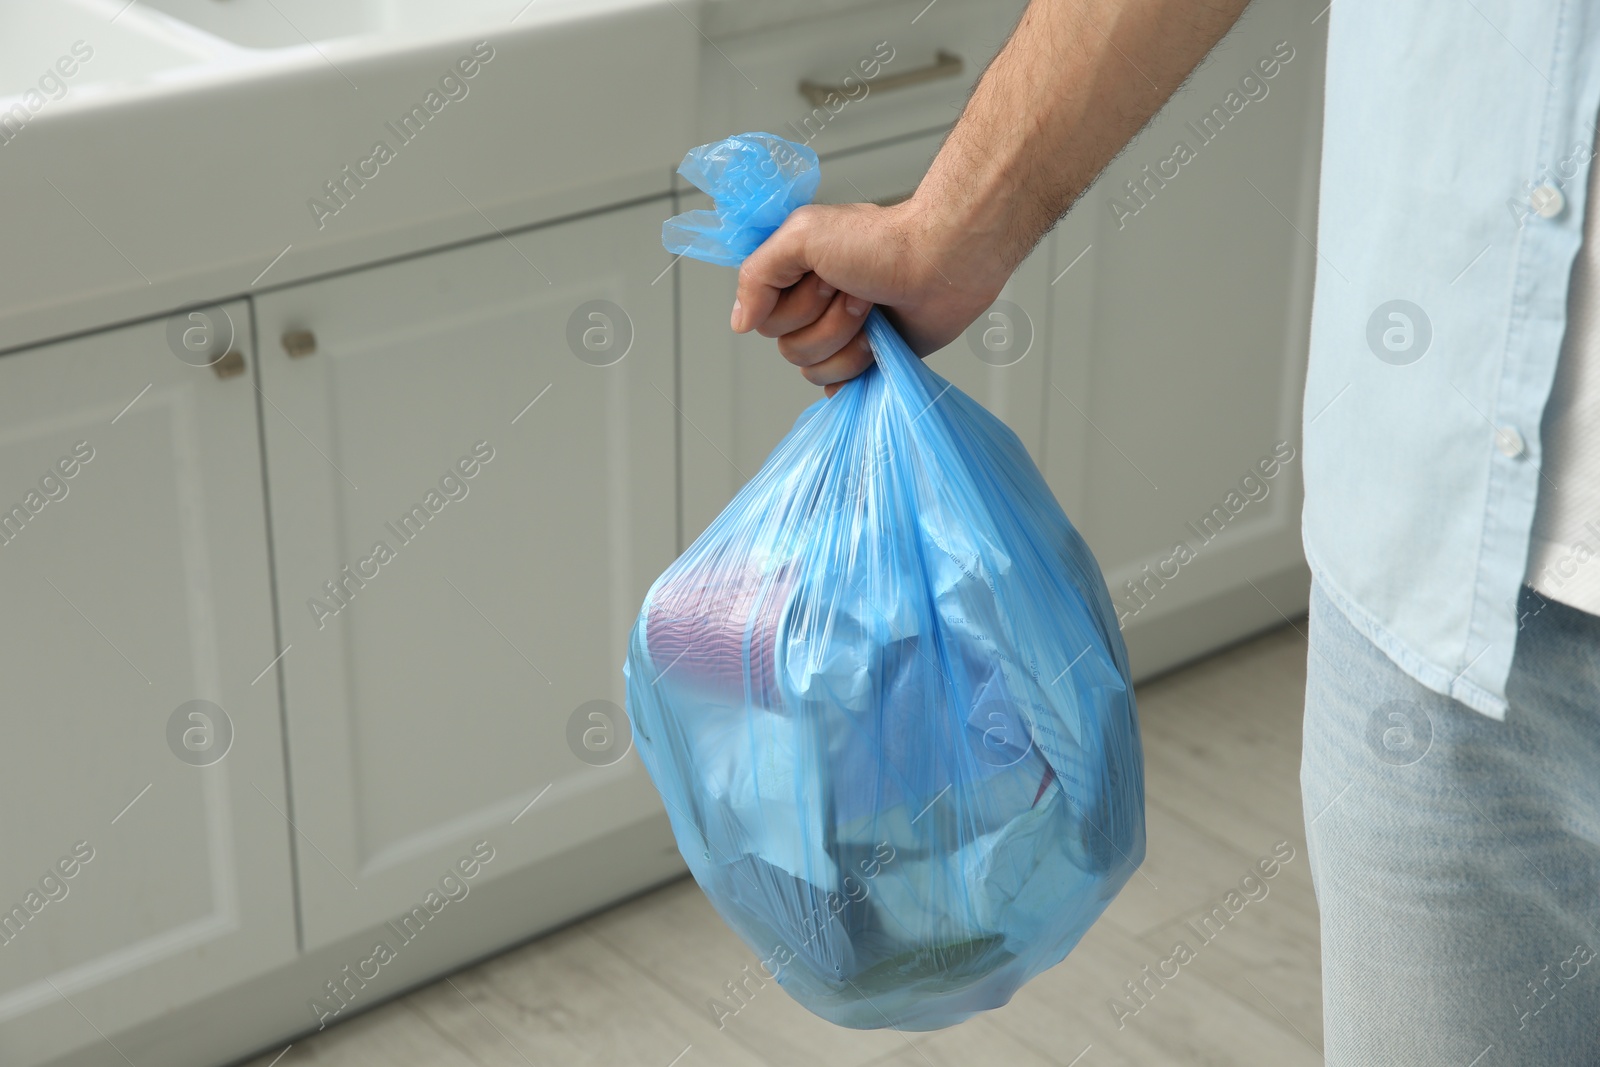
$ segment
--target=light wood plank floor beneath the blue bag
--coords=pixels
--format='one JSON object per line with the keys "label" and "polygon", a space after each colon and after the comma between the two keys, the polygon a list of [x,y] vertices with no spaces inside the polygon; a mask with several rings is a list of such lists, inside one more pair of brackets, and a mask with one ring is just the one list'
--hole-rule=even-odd
{"label": "light wood plank floor beneath the blue bag", "polygon": [[[1302,630],[1301,621],[1139,688],[1144,867],[1072,955],[1000,1011],[936,1033],[861,1033],[810,1016],[770,982],[718,1029],[709,1000],[755,957],[685,878],[296,1041],[277,1067],[1320,1064],[1299,800]],[[1235,897],[1237,915],[1202,941],[1186,923],[1224,904],[1280,841],[1293,859],[1266,896],[1251,883],[1256,899]],[[1178,941],[1192,958],[1165,984],[1146,979],[1142,968],[1155,973]],[[1126,982],[1150,990],[1142,1006]]]}

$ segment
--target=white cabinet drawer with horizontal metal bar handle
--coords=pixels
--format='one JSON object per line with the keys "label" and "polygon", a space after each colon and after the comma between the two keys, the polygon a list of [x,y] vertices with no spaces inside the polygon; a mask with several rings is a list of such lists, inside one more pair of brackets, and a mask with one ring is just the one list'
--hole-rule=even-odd
{"label": "white cabinet drawer with horizontal metal bar handle", "polygon": [[765,130],[834,152],[947,126],[1022,6],[914,0],[707,43],[699,139]]}

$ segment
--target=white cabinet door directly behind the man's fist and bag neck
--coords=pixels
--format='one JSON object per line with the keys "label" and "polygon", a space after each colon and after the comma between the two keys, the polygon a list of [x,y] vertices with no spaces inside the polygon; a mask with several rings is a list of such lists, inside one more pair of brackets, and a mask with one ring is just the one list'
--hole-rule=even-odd
{"label": "white cabinet door directly behind the man's fist and bag neck", "polygon": [[[917,187],[942,134],[822,158],[819,203],[901,200]],[[701,194],[678,210],[710,206]],[[928,366],[1005,419],[1035,461],[1043,456],[1050,291],[1048,243],[1006,283],[995,306]],[[693,541],[765,462],[795,416],[822,392],[757,333],[734,334],[728,314],[738,272],[680,261],[683,336],[683,509]]]}

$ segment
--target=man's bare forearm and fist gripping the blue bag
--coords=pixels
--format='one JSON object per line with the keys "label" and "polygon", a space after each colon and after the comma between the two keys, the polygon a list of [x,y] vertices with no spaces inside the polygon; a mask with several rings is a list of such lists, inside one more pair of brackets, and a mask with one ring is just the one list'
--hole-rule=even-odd
{"label": "man's bare forearm and fist gripping the blue bag", "polygon": [[739,269],[733,330],[834,395],[882,304],[917,355],[955,339],[1248,0],[1032,0],[915,195],[797,210]]}

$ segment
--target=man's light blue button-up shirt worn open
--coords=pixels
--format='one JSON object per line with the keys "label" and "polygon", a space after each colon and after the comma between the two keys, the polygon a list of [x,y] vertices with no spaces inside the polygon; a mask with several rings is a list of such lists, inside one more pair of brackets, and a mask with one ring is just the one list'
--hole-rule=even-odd
{"label": "man's light blue button-up shirt worn open", "polygon": [[1504,718],[1600,5],[1334,0],[1325,18],[1306,555],[1403,670]]}

